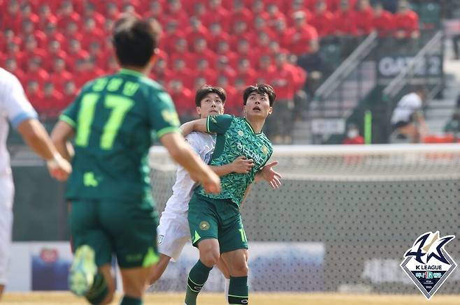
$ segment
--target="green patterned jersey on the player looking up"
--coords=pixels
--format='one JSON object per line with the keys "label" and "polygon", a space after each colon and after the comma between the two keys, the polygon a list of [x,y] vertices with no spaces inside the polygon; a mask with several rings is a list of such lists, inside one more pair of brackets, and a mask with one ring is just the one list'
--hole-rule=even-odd
{"label": "green patterned jersey on the player looking up", "polygon": [[271,157],[271,142],[264,133],[254,133],[244,117],[229,114],[210,116],[206,124],[209,133],[217,133],[210,165],[225,165],[239,156],[245,156],[254,161],[254,168],[248,174],[231,173],[220,177],[222,191],[219,195],[205,193],[201,186],[196,188],[196,192],[209,198],[230,199],[239,206],[247,186]]}

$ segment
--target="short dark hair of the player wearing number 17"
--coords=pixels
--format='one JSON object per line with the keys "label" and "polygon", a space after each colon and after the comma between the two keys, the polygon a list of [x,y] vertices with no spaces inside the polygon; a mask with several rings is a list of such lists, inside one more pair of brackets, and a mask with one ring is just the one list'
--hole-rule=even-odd
{"label": "short dark hair of the player wearing number 17", "polygon": [[113,27],[113,47],[121,66],[143,67],[158,46],[161,28],[158,22],[125,14]]}

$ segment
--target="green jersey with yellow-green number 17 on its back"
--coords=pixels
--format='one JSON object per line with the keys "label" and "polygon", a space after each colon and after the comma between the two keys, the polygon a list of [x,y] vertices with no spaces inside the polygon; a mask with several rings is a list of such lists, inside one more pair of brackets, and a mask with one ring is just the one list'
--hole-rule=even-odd
{"label": "green jersey with yellow-green number 17 on its back", "polygon": [[127,69],[85,84],[59,119],[75,129],[69,200],[150,199],[152,131],[157,137],[180,132],[171,97],[153,80]]}

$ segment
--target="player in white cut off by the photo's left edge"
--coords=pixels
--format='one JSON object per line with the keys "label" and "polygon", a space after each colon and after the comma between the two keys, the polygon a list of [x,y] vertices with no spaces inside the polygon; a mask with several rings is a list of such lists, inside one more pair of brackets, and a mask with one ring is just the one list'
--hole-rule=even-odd
{"label": "player in white cut off by the photo's left edge", "polygon": [[47,161],[52,177],[64,181],[72,170],[38,121],[17,77],[0,68],[0,298],[6,285],[13,225],[14,186],[10,156],[6,150],[8,121],[20,133],[24,142]]}

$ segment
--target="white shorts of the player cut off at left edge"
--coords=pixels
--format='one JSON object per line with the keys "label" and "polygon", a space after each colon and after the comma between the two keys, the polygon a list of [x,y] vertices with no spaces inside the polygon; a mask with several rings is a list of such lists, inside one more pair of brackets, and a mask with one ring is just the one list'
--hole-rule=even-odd
{"label": "white shorts of the player cut off at left edge", "polygon": [[[8,177],[9,178],[9,177]],[[13,228],[13,181],[0,177],[0,285],[6,284]]]}

